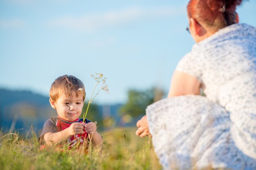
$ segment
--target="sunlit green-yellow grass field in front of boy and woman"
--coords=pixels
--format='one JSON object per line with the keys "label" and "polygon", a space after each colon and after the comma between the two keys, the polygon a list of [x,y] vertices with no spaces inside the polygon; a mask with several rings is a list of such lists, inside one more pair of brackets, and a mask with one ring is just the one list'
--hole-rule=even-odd
{"label": "sunlit green-yellow grass field in front of boy and woman", "polygon": [[159,170],[151,139],[135,135],[135,128],[118,128],[101,133],[103,150],[89,147],[60,151],[39,150],[37,137],[22,139],[18,134],[0,134],[1,170]]}

